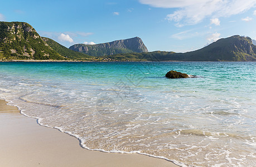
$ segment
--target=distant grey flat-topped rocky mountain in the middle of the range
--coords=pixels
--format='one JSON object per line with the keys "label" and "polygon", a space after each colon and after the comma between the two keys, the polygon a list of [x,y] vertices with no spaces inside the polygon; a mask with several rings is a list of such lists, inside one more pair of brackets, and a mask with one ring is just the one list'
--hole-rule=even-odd
{"label": "distant grey flat-topped rocky mountain in the middle of the range", "polygon": [[134,37],[127,40],[117,40],[96,45],[76,44],[69,47],[73,51],[82,52],[90,56],[105,56],[118,53],[148,52],[141,38]]}

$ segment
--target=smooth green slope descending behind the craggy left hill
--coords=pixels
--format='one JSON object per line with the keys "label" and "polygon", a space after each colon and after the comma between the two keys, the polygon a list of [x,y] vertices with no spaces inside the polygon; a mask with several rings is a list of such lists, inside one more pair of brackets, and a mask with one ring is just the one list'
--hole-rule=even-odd
{"label": "smooth green slope descending behind the craggy left hill", "polygon": [[69,48],[66,48],[65,46],[60,45],[54,40],[51,40],[50,38],[42,37],[42,40],[44,40],[47,45],[49,45],[54,51],[59,53],[60,55],[69,58],[69,59],[83,59],[88,60],[93,58],[93,56],[85,55],[84,53],[75,52],[73,50],[70,50]]}

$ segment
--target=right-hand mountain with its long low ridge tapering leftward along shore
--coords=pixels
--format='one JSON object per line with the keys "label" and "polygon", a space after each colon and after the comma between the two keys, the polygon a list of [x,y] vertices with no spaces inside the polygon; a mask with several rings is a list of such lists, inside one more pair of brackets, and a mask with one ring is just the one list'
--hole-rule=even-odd
{"label": "right-hand mountain with its long low ridge tapering leftward along shore", "polygon": [[115,60],[133,61],[256,61],[256,46],[249,37],[222,38],[200,50],[175,52],[127,53],[105,56]]}

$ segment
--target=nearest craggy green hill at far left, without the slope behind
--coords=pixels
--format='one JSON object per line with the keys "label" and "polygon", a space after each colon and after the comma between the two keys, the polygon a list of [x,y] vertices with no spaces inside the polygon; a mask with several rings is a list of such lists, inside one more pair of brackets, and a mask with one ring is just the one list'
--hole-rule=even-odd
{"label": "nearest craggy green hill at far left, without the slope behind", "polygon": [[0,60],[66,60],[25,22],[0,22]]}

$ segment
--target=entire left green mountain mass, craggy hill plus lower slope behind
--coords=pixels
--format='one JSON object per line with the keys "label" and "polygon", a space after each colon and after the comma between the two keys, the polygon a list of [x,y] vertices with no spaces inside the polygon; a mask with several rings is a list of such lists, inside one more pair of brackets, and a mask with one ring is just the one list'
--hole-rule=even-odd
{"label": "entire left green mountain mass, craggy hill plus lower slope behind", "polygon": [[94,60],[69,50],[50,38],[41,37],[26,22],[0,22],[0,60]]}

